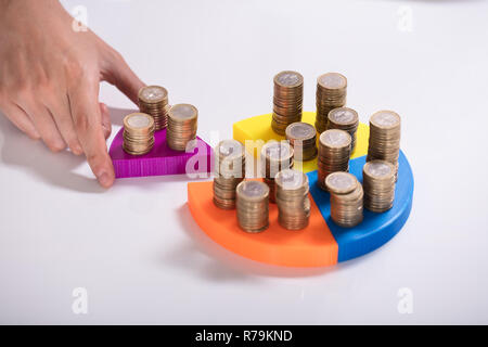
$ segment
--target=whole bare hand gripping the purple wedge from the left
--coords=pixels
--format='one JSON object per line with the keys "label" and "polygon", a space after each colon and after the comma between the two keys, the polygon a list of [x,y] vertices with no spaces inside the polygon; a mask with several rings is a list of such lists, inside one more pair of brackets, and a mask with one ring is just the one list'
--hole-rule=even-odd
{"label": "whole bare hand gripping the purple wedge from the left", "polygon": [[144,83],[91,30],[73,29],[57,0],[0,0],[0,111],[52,152],[85,155],[102,187],[114,183],[111,120],[101,81],[137,104]]}

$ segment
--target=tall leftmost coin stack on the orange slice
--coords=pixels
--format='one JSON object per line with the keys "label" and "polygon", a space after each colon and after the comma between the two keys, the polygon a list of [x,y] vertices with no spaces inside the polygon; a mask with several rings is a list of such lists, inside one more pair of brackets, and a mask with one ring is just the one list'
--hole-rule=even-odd
{"label": "tall leftmost coin stack on the orange slice", "polygon": [[245,177],[244,145],[236,140],[223,140],[216,149],[214,203],[222,209],[235,208],[235,188]]}

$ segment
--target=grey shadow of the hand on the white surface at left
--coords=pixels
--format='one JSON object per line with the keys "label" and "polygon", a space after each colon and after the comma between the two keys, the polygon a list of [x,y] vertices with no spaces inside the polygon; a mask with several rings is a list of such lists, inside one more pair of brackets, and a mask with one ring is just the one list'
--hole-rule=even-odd
{"label": "grey shadow of the hand on the white surface at left", "polygon": [[73,172],[85,163],[85,156],[68,151],[52,153],[42,141],[30,140],[16,129],[3,114],[0,114],[0,132],[3,165],[20,167],[50,185],[86,193],[105,192],[94,177]]}

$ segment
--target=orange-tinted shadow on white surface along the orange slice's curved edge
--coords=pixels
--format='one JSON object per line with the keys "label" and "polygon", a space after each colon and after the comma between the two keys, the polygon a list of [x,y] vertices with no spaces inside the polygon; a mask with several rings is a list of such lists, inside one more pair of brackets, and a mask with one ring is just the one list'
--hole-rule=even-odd
{"label": "orange-tinted shadow on white surface along the orange slice's curved edge", "polygon": [[[255,275],[306,278],[341,271],[357,264],[356,260],[350,260],[322,268],[290,268],[261,264],[246,259],[215,243],[193,220],[188,204],[182,205],[175,211],[179,216],[182,230],[188,233],[191,240],[189,240],[189,244],[175,249],[165,258],[165,261],[172,261],[175,265],[195,272],[209,281],[247,281],[249,277],[254,278]],[[202,255],[205,255],[205,261],[203,261]],[[365,257],[368,256],[360,259],[364,260]]]}

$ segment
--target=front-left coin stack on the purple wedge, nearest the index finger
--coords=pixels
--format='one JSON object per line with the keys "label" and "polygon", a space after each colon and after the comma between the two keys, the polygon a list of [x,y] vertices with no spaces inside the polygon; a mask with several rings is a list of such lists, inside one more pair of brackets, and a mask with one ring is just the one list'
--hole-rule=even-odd
{"label": "front-left coin stack on the purple wedge, nearest the index finger", "polygon": [[154,119],[145,113],[131,113],[124,118],[124,151],[143,155],[154,146]]}

